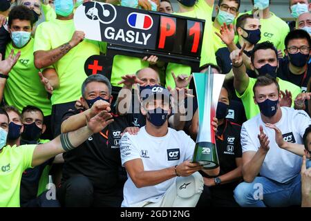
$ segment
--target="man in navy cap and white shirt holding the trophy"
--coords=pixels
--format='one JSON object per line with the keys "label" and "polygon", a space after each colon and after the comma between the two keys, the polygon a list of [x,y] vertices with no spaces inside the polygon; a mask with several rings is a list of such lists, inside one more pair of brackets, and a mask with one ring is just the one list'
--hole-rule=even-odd
{"label": "man in navy cap and white shirt holding the trophy", "polygon": [[[190,162],[194,141],[185,132],[168,128],[169,90],[149,86],[140,98],[146,126],[138,135],[125,133],[120,142],[122,166],[129,177],[122,206],[196,206],[204,184],[197,173],[202,166]],[[219,167],[205,173],[218,175]]]}

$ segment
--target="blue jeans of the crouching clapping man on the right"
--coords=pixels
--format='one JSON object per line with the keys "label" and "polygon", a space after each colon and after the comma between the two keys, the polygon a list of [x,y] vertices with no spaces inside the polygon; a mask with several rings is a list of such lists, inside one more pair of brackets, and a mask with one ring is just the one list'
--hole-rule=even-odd
{"label": "blue jeans of the crouching clapping man on the right", "polygon": [[234,189],[234,198],[243,207],[301,205],[301,175],[285,184],[256,177],[252,183],[238,184]]}

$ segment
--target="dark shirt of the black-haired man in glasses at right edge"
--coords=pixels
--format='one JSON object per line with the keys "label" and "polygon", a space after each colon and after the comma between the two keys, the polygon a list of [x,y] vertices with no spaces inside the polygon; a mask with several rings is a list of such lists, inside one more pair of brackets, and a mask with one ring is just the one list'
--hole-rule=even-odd
{"label": "dark shirt of the black-haired man in glasses at right edge", "polygon": [[301,75],[295,75],[290,71],[290,61],[288,57],[283,59],[279,59],[279,68],[278,68],[278,77],[285,80],[290,81],[292,84],[299,86],[301,88],[301,92],[307,92],[308,81],[311,77],[311,64],[308,64],[308,68]]}

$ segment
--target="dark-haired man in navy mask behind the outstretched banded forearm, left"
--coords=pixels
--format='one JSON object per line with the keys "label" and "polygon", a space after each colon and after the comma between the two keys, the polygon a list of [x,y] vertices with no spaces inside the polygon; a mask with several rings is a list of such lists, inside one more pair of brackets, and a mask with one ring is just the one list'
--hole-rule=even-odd
{"label": "dark-haired man in navy mask behind the outstretched banded forearm, left", "polygon": [[[21,133],[20,144],[17,144],[17,146],[25,144],[46,144],[50,141],[40,139],[41,134],[46,131],[46,125],[44,124],[44,114],[39,108],[36,106],[24,107],[21,112],[21,121],[23,123],[23,130]],[[50,172],[52,164],[59,164],[62,162],[64,162],[64,160],[62,154],[60,154],[23,172],[20,191],[21,207],[59,206],[57,200],[48,200],[48,198],[46,198],[46,186],[48,185],[48,173]]]}

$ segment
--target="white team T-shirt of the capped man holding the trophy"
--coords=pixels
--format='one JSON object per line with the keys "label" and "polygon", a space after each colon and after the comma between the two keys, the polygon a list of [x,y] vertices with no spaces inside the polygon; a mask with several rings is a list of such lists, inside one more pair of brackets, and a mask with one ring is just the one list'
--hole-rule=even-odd
{"label": "white team T-shirt of the capped man holding the trophy", "polygon": [[[176,166],[185,160],[191,160],[194,146],[194,141],[184,131],[169,128],[164,137],[153,137],[142,127],[138,135],[123,135],[120,144],[122,166],[134,159],[142,160],[144,171]],[[176,177],[154,186],[137,188],[128,174],[122,206],[131,206],[138,202],[158,202],[174,182]]]}

